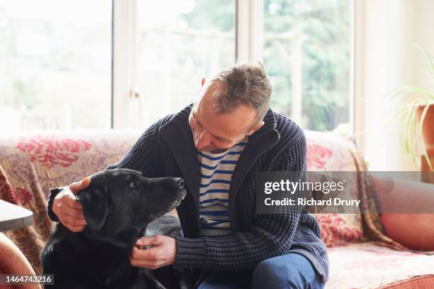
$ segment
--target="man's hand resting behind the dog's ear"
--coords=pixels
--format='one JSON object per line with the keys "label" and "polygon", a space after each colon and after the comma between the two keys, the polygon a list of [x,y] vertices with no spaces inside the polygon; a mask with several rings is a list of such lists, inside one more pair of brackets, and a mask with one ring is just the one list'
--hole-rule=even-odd
{"label": "man's hand resting behind the dog's ear", "polygon": [[82,205],[75,200],[77,192],[84,190],[90,184],[90,178],[84,178],[80,182],[73,182],[65,190],[59,192],[52,203],[52,212],[57,215],[59,221],[69,230],[83,231],[86,220],[83,217]]}

